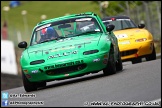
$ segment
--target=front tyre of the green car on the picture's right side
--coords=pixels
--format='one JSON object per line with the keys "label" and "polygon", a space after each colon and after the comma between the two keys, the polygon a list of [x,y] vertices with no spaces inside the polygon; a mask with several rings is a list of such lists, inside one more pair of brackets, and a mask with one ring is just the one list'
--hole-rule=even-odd
{"label": "front tyre of the green car on the picture's right side", "polygon": [[112,74],[116,73],[116,62],[115,62],[115,59],[114,59],[114,55],[112,53],[112,48],[111,48],[111,51],[110,51],[107,66],[106,66],[106,68],[103,69],[103,73],[104,73],[104,75],[112,75]]}

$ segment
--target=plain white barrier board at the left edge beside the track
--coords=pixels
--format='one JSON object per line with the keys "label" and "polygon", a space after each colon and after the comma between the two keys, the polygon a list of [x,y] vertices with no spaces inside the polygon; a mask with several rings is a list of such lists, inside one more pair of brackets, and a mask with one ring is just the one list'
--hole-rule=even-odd
{"label": "plain white barrier board at the left edge beside the track", "polygon": [[1,73],[18,74],[14,44],[1,40]]}

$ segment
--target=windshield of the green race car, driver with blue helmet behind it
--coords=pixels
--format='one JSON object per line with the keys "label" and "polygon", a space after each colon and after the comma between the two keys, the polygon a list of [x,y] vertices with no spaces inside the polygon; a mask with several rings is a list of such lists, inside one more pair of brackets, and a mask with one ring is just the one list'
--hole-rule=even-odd
{"label": "windshield of the green race car, driver with blue helmet behind it", "polygon": [[102,32],[97,20],[93,17],[59,20],[35,28],[30,45]]}

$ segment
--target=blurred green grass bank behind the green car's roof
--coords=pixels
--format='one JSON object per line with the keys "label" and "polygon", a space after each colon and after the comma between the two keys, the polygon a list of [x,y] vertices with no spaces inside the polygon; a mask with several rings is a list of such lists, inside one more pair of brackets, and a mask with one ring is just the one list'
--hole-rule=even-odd
{"label": "blurred green grass bank behind the green car's roof", "polygon": [[[42,20],[43,14],[47,16],[47,19],[64,16],[66,13],[75,14],[87,11],[100,15],[99,6],[93,1],[21,1],[20,6],[10,8],[6,14],[3,7],[9,6],[9,3],[10,1],[1,1],[1,27],[4,20],[8,19],[9,40],[16,44],[17,31],[20,31],[23,40],[29,41],[33,27]],[[23,10],[27,11],[27,33],[21,15]]]}

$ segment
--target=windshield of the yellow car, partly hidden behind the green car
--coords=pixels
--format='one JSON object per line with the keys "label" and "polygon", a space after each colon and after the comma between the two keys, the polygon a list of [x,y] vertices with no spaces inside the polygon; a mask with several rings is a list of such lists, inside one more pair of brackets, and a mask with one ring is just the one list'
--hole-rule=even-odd
{"label": "windshield of the yellow car, partly hidden behind the green car", "polygon": [[130,29],[130,28],[137,28],[137,26],[134,24],[134,22],[130,19],[105,20],[105,21],[103,21],[103,23],[105,26],[107,26],[108,24],[115,25],[114,31]]}

